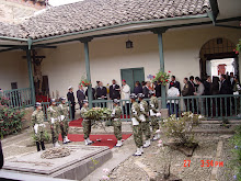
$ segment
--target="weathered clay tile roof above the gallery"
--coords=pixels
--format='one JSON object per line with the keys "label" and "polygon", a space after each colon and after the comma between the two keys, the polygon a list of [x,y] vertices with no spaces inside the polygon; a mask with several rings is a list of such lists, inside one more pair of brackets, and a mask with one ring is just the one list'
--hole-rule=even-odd
{"label": "weathered clay tile roof above the gallery", "polygon": [[[42,38],[135,21],[204,14],[209,0],[84,0],[54,7],[0,35]],[[0,25],[1,27],[1,25]]]}

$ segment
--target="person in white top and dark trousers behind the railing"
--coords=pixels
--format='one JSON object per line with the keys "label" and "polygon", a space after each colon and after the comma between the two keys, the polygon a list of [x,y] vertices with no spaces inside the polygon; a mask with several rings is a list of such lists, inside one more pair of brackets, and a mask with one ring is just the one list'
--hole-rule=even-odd
{"label": "person in white top and dark trousers behind the railing", "polygon": [[[180,91],[175,84],[170,84],[168,90],[168,98],[176,98],[180,97]],[[169,100],[167,102],[167,106],[169,109],[169,115],[175,114],[176,117],[179,116],[179,100]]]}

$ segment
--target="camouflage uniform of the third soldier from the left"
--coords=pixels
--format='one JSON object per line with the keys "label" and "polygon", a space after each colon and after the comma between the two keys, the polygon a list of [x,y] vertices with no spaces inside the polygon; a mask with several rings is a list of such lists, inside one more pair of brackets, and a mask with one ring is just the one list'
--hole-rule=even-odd
{"label": "camouflage uniform of the third soldier from the left", "polygon": [[67,104],[59,104],[59,114],[60,114],[60,129],[61,129],[61,136],[62,139],[65,136],[68,135],[69,132],[69,122],[68,122],[68,116],[69,116],[69,109]]}

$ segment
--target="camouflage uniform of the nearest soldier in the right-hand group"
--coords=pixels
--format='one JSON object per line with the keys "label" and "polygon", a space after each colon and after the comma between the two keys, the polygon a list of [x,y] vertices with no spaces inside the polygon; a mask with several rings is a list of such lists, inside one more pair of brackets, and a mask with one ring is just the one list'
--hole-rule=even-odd
{"label": "camouflage uniform of the nearest soldier in the right-hand group", "polygon": [[144,140],[142,140],[142,128],[141,128],[141,120],[140,116],[140,106],[137,102],[133,103],[131,106],[131,120],[133,120],[133,135],[134,140],[137,146],[137,148],[142,147]]}

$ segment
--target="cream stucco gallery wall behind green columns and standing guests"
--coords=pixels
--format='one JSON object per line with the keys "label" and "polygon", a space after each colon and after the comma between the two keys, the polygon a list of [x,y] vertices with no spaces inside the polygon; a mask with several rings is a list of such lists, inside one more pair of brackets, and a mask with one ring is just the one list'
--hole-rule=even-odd
{"label": "cream stucco gallery wall behind green columns and standing guests", "polygon": [[[203,26],[170,30],[163,34],[165,70],[171,70],[172,75],[175,75],[181,82],[184,77],[199,76],[199,50],[206,42],[216,37],[226,37],[237,44],[240,36],[239,30],[226,27]],[[120,83],[120,69],[123,68],[144,67],[146,79],[148,75],[154,75],[159,70],[159,49],[156,34],[130,35],[129,39],[134,42],[131,49],[125,47],[128,35],[112,36],[95,38],[89,44],[93,86],[96,80],[106,84],[111,83],[112,79],[116,79]],[[73,86],[76,92],[81,76],[85,73],[83,44],[74,42],[57,46],[56,49],[39,49],[37,52],[38,55],[46,56],[42,63],[43,76],[48,76],[50,92],[58,90],[59,95],[66,95],[69,86]],[[15,79],[20,79],[20,82],[28,82],[26,65],[23,66],[24,60],[21,59],[21,56],[18,55],[19,58],[16,58],[18,56],[13,56],[12,53],[0,54],[0,56],[1,59],[2,56],[10,59],[4,63],[0,61],[0,75],[5,72],[5,79],[2,79],[1,76],[1,82],[10,84],[10,81],[13,81],[11,75],[25,75]],[[19,66],[12,67],[13,64]]]}

